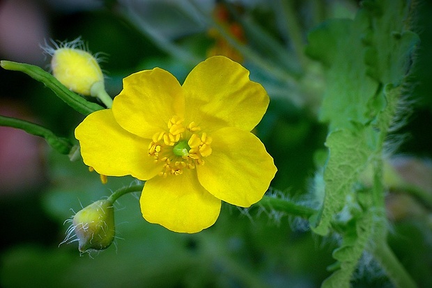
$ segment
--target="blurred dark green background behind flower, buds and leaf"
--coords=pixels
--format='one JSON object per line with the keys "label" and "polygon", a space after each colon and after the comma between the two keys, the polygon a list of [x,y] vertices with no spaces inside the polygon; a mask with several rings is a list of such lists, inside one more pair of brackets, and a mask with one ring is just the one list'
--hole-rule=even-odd
{"label": "blurred dark green background behind flower, buds and leaf", "polygon": [[[407,95],[412,113],[397,131],[403,137],[395,137],[394,142],[403,138],[396,153],[410,157],[406,158],[412,165],[408,172],[421,171],[424,176],[419,181],[431,189],[432,3],[419,2],[415,30],[422,45],[410,77],[412,93]],[[215,1],[195,3],[208,15],[215,8]],[[279,1],[233,3],[228,6],[241,16],[242,23],[254,25],[249,26],[251,31],[243,27],[247,45],[274,63],[268,51],[271,47],[256,40],[254,33],[259,33],[259,27],[265,35],[284,43],[280,15],[275,12]],[[291,4],[304,39],[321,20],[353,17],[359,5],[348,0]],[[208,33],[209,22],[203,22],[202,17],[189,1],[3,0],[0,58],[48,70],[49,56],[40,45],[50,45],[50,39],[81,36],[92,53],[103,52],[102,69],[111,96],[120,92],[123,77],[156,66],[169,70],[182,83],[215,45]],[[316,120],[317,103],[293,104],[284,95],[298,90],[274,89],[279,85],[277,79],[247,59],[244,65],[251,71],[251,79],[268,88],[271,98],[256,133],[279,170],[272,191],[307,200],[316,151],[323,149],[327,133],[325,125]],[[315,84],[319,88],[319,79],[307,85]],[[6,70],[0,70],[0,114],[38,122],[70,138],[83,119],[43,84]],[[131,182],[134,179],[110,177],[104,186],[81,160],[71,162],[39,138],[0,127],[1,287],[319,287],[330,275],[326,267],[334,262],[331,253],[337,247],[337,237],[313,236],[304,220],[224,205],[213,227],[199,234],[176,234],[144,221],[139,195],[125,195],[116,204],[115,246],[89,255],[80,255],[76,242],[59,246],[68,228],[63,223],[74,211]],[[421,287],[432,287],[431,226],[417,218],[424,207],[412,200],[395,201],[389,209],[406,211],[392,222],[389,243]],[[424,214],[431,217],[431,211]],[[370,258],[364,255],[353,286],[391,287]]]}

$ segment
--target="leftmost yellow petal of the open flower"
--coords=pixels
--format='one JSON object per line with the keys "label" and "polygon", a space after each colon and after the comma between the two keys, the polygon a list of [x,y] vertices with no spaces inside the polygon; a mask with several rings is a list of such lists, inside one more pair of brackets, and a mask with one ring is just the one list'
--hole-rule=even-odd
{"label": "leftmost yellow petal of the open flower", "polygon": [[148,156],[150,139],[140,138],[120,127],[111,109],[88,115],[75,129],[86,165],[108,176],[132,175],[141,180],[160,172]]}

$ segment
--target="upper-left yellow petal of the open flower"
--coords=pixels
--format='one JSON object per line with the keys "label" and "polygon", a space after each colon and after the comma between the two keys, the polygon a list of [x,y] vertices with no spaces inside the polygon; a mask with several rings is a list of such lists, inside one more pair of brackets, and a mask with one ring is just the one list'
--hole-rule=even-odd
{"label": "upper-left yellow petal of the open flower", "polygon": [[169,120],[183,118],[184,97],[176,77],[160,68],[144,70],[123,79],[123,90],[114,97],[112,110],[121,127],[151,138],[167,129]]}

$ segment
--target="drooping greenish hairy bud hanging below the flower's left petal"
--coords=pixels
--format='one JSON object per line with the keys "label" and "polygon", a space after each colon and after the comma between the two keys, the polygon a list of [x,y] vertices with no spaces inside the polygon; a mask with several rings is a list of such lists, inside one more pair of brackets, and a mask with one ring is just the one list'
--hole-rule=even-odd
{"label": "drooping greenish hairy bud hanging below the flower's left petal", "polygon": [[98,200],[88,205],[75,214],[73,227],[80,252],[108,248],[116,234],[113,203],[110,200]]}

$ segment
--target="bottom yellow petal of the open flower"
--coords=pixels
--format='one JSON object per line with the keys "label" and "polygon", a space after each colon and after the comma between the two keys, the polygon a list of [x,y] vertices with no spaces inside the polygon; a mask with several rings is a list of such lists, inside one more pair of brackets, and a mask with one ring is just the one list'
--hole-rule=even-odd
{"label": "bottom yellow petal of the open flower", "polygon": [[174,232],[195,233],[213,225],[221,202],[199,184],[194,170],[182,175],[154,177],[146,182],[139,200],[150,223]]}

